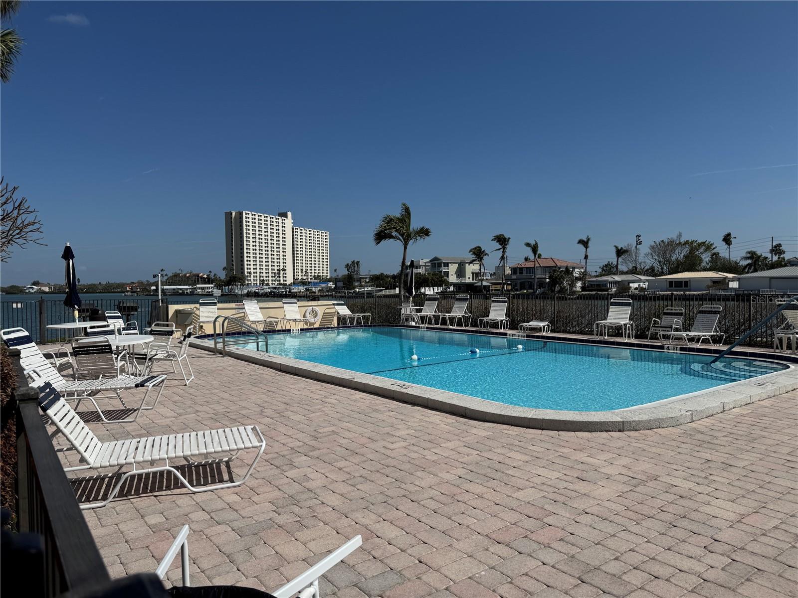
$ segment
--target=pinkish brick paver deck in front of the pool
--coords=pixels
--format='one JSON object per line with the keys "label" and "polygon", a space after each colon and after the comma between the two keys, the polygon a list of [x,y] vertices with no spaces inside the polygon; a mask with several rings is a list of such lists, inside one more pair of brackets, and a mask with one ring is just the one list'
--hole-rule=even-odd
{"label": "pinkish brick paver deck in front of the pool", "polygon": [[170,376],[156,410],[93,429],[256,423],[267,450],[239,488],[147,478],[86,511],[112,576],[154,570],[188,523],[192,585],[274,590],[359,533],[322,596],[798,595],[798,391],[680,427],[553,432],[191,359],[196,380]]}

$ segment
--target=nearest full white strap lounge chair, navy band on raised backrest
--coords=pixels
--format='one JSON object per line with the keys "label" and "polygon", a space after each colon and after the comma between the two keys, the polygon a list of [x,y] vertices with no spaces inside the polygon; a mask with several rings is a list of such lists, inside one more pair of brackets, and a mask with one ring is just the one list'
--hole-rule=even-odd
{"label": "nearest full white strap lounge chair, navy band on raised backrest", "polygon": [[[113,440],[103,443],[93,434],[89,427],[78,417],[75,410],[69,406],[52,384],[44,382],[39,386],[39,407],[49,417],[65,439],[72,445],[73,450],[81,455],[81,465],[65,467],[65,471],[97,470],[116,468],[132,465],[132,471],[122,474],[119,481],[109,492],[104,501],[91,502],[81,505],[81,509],[97,509],[106,506],[117,496],[124,481],[132,475],[156,474],[160,471],[171,471],[180,482],[192,492],[207,492],[220,488],[235,488],[247,481],[252,473],[255,463],[258,462],[266,440],[257,426],[228,427],[219,430],[188,432],[186,434],[170,434],[149,436],[146,438]],[[243,478],[232,482],[220,482],[212,486],[195,487],[188,483],[183,474],[172,463],[176,459],[185,459],[188,463],[230,462],[241,450],[257,449],[258,454],[251,462]],[[67,449],[69,450],[69,449]],[[231,457],[214,458],[216,454],[233,453]],[[199,459],[196,459],[199,457]],[[208,458],[211,457],[211,458]],[[152,467],[157,461],[164,465]],[[138,469],[138,466],[145,466]]]}

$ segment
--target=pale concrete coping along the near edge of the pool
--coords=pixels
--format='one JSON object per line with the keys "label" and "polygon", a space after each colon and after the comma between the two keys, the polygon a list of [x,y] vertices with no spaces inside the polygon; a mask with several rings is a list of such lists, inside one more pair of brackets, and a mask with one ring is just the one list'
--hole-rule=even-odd
{"label": "pale concrete coping along the near edge of the pool", "polygon": [[[190,344],[216,352],[212,340],[192,339]],[[780,372],[668,399],[666,402],[616,411],[557,411],[497,403],[247,348],[228,348],[227,356],[294,376],[369,392],[468,419],[551,431],[638,431],[678,426],[798,388],[796,368],[790,366]]]}

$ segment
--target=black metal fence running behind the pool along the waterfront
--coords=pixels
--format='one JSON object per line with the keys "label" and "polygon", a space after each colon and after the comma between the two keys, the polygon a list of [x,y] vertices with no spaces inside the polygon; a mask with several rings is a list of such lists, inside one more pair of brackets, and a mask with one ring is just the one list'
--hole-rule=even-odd
{"label": "black metal fence running behind the pool along the waterfront", "polygon": [[[447,313],[454,305],[456,293],[441,293],[438,309]],[[685,310],[684,328],[689,329],[701,305],[721,305],[720,327],[726,333],[726,340],[732,341],[763,320],[778,308],[778,301],[784,299],[779,295],[769,294],[733,294],[733,293],[630,293],[627,295],[608,295],[606,293],[580,293],[569,295],[533,294],[533,293],[476,293],[471,295],[468,305],[473,314],[472,325],[476,319],[485,317],[490,311],[492,297],[508,297],[508,317],[510,328],[517,329],[519,324],[531,320],[548,320],[552,332],[573,334],[589,334],[593,332],[593,323],[603,320],[613,297],[629,297],[632,301],[632,321],[635,336],[646,338],[651,320],[662,317],[666,307],[681,307]],[[373,295],[364,297],[352,293],[314,293],[290,295],[298,301],[329,301],[342,299],[350,309],[357,313],[371,313],[372,324],[391,325],[401,321],[401,300],[398,295]],[[219,303],[235,303],[243,297],[219,297]],[[280,301],[282,297],[259,297],[259,301]],[[422,305],[425,297],[417,295],[413,302]],[[171,296],[164,297],[164,305],[196,304],[198,297]],[[96,307],[102,311],[117,310],[124,317],[135,320],[139,329],[162,317],[158,301],[152,297],[124,297],[121,299],[92,299],[85,297],[82,313],[88,313]],[[67,330],[48,329],[48,325],[73,321],[71,310],[60,300],[40,299],[39,301],[3,301],[2,327],[19,326],[28,330],[38,342],[55,342],[73,336]],[[779,318],[757,331],[745,341],[747,345],[765,346],[772,344],[773,331],[780,325]]]}

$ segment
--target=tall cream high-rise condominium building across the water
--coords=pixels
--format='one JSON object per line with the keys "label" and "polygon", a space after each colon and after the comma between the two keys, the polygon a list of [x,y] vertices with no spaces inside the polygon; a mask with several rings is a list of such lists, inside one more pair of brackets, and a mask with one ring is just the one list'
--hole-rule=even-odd
{"label": "tall cream high-rise condominium building across the water", "polygon": [[330,276],[330,234],[295,227],[290,212],[225,212],[224,238],[227,273],[243,274],[249,285]]}

